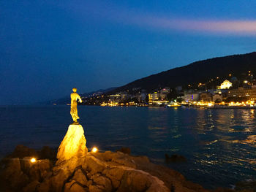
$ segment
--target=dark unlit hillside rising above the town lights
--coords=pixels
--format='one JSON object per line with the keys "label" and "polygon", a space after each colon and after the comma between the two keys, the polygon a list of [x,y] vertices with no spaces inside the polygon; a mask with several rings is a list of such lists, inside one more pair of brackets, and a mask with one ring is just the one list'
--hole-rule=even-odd
{"label": "dark unlit hillside rising above the town lights", "polygon": [[135,80],[111,91],[111,93],[132,90],[132,88],[153,91],[155,88],[165,86],[170,88],[175,88],[178,85],[187,87],[189,84],[197,85],[199,82],[216,80],[217,77],[219,77],[219,80],[225,80],[228,78],[228,74],[241,77],[243,73],[245,75],[248,71],[251,71],[252,74],[256,72],[256,52],[196,61],[187,66],[177,67]]}

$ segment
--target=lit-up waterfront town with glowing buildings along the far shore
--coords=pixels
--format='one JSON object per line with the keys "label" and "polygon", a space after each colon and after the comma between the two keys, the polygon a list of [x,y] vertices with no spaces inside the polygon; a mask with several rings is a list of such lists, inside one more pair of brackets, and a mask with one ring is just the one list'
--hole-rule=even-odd
{"label": "lit-up waterfront town with glowing buildings along the far shore", "polygon": [[[211,88],[208,88],[209,85]],[[227,74],[225,80],[216,77],[208,82],[188,84],[186,88],[159,87],[150,92],[143,88],[132,88],[116,93],[97,92],[82,99],[85,105],[110,107],[256,107],[256,80],[249,71],[240,80]]]}

